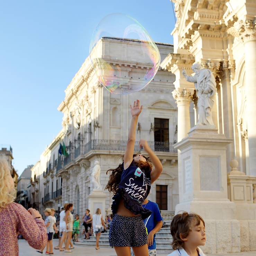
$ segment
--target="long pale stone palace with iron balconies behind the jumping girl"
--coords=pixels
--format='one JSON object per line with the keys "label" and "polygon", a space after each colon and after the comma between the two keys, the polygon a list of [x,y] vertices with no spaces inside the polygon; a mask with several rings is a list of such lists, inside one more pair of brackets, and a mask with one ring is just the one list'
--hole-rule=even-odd
{"label": "long pale stone palace with iron balconies behind the jumping girl", "polygon": [[[157,43],[157,46],[161,59],[173,51],[172,45]],[[136,60],[124,59],[122,47],[128,52],[136,52],[140,42],[103,38],[97,49],[101,58],[108,61],[118,59],[117,64],[123,72],[135,82],[139,81],[147,62],[143,56],[141,59],[138,56]],[[177,152],[173,148],[177,142],[177,107],[171,95],[174,80],[173,74],[160,68],[153,81],[142,91],[129,95],[109,94],[97,81],[87,58],[65,90],[65,99],[58,108],[63,113],[63,129],[32,168],[32,204],[38,205],[42,211],[46,206],[58,209],[65,202],[72,202],[74,212],[82,216],[88,208],[88,196],[92,192],[94,162],[99,161],[100,184],[105,188],[108,181],[106,171],[117,167],[120,162],[118,157],[124,154],[131,118],[130,104],[140,99],[143,113],[139,118],[136,140],[148,140],[164,165],[164,171],[153,184],[149,197],[157,201],[157,197],[165,193],[161,190],[167,189],[166,202],[161,203],[162,214],[164,218],[171,219],[178,203]],[[168,138],[165,142],[155,139],[155,132],[159,129],[155,127],[156,119],[167,122]],[[63,142],[69,153],[66,157],[58,153]],[[138,142],[135,152],[139,152]],[[111,212],[113,195],[108,191],[104,193],[106,209],[101,210],[106,214]]]}

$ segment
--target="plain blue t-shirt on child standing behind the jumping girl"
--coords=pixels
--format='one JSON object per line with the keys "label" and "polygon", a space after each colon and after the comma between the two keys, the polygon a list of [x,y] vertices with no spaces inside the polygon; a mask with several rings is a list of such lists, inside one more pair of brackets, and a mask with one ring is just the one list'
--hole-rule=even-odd
{"label": "plain blue t-shirt on child standing behind the jumping girl", "polygon": [[[153,230],[156,227],[157,222],[159,222],[163,219],[162,219],[162,216],[161,216],[161,213],[160,213],[160,210],[159,210],[159,207],[158,207],[157,203],[149,201],[147,204],[143,204],[142,206],[144,208],[152,211],[152,214],[148,217],[149,219],[148,218],[144,219],[144,224],[146,224],[146,222],[148,220],[148,223],[147,223],[146,227],[147,227],[148,233],[149,233],[151,230]],[[156,249],[155,237],[156,237],[156,235],[154,236],[153,244],[148,247],[149,250]]]}

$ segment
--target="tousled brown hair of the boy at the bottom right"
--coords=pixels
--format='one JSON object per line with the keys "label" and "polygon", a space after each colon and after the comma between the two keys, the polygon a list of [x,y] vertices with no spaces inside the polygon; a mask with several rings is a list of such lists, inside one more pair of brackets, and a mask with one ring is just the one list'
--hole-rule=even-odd
{"label": "tousled brown hair of the boy at the bottom right", "polygon": [[198,226],[200,225],[201,221],[205,226],[203,218],[196,213],[183,212],[181,214],[176,214],[173,217],[173,220],[170,224],[170,229],[171,235],[173,236],[173,242],[171,246],[174,250],[182,248],[184,245],[184,241],[180,238],[180,235],[183,238],[186,238],[191,231],[192,225]]}

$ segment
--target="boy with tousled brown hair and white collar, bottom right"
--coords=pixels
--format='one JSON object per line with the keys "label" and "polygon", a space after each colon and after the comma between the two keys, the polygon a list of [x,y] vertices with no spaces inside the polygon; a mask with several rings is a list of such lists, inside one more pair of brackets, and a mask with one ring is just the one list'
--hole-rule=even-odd
{"label": "boy with tousled brown hair and white collar, bottom right", "polygon": [[203,218],[195,213],[183,212],[173,217],[170,225],[175,251],[168,256],[205,256],[198,246],[206,241]]}

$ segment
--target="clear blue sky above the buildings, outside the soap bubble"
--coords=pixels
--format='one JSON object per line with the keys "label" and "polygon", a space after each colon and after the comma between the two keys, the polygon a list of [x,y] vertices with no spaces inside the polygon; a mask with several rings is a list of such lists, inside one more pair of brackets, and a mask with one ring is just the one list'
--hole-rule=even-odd
{"label": "clear blue sky above the buildings, outside the soap bubble", "polygon": [[169,0],[0,2],[0,145],[11,144],[18,174],[61,130],[64,90],[88,56],[94,28],[113,12],[173,43]]}

